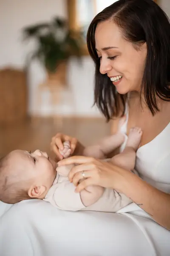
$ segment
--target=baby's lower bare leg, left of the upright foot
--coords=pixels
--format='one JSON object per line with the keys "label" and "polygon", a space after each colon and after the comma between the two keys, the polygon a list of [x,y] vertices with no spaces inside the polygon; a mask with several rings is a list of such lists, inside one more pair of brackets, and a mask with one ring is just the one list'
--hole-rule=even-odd
{"label": "baby's lower bare leg, left of the upright foot", "polygon": [[118,148],[125,140],[125,135],[116,133],[105,137],[97,145],[88,146],[84,149],[83,155],[105,159],[107,154]]}

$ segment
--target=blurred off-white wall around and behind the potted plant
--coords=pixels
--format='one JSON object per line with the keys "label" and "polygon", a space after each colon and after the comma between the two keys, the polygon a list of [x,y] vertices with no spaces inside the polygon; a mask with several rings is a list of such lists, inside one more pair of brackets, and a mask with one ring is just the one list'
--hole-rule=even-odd
{"label": "blurred off-white wall around and behind the potted plant", "polygon": [[[36,22],[49,20],[52,16],[67,17],[66,0],[0,0],[0,68],[14,66],[23,68],[26,53],[34,44],[24,44],[21,29]],[[37,111],[35,90],[45,79],[45,70],[39,63],[31,65],[28,74],[29,113],[48,115],[53,110],[48,102],[48,93],[43,97],[43,105]],[[94,64],[88,56],[83,57],[82,67],[76,60],[68,64],[68,82],[72,90],[74,104],[70,95],[64,93],[66,103],[56,107],[56,113],[65,115],[100,116],[96,108],[91,108],[94,99]],[[84,97],[84,99],[82,99]]]}

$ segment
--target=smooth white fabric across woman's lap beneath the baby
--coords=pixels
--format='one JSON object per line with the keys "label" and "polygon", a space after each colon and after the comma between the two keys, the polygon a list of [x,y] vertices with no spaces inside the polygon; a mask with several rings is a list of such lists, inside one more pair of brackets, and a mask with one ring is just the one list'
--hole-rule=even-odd
{"label": "smooth white fabric across woman's lap beneath the baby", "polygon": [[[153,221],[150,225],[155,228]],[[168,254],[156,254],[127,214],[68,212],[36,199],[15,205],[0,202],[0,256],[113,255]]]}

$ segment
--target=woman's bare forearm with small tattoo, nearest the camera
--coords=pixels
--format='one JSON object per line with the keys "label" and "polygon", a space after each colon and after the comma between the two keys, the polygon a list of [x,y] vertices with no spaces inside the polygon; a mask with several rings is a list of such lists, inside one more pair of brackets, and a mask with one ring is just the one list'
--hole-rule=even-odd
{"label": "woman's bare forearm with small tattoo, nearest the camera", "polygon": [[148,184],[140,177],[121,170],[121,192],[152,216],[161,226],[170,230],[170,194]]}

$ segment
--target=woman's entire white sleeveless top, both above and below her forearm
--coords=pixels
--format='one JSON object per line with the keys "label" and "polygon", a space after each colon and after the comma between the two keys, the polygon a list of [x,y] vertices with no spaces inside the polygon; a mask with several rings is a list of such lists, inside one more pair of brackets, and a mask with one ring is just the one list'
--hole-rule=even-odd
{"label": "woman's entire white sleeveless top, both above and below her forearm", "polygon": [[[125,134],[126,139],[120,151],[125,148],[127,142],[127,104],[125,115],[126,120],[120,127],[120,131]],[[135,170],[147,183],[170,194],[170,122],[153,140],[136,151]],[[151,252],[148,252],[148,256],[170,255],[170,231],[164,229],[159,224],[153,224],[153,218],[137,204],[129,204],[117,213],[127,216],[139,227],[147,243],[150,244]],[[138,240],[136,240],[136,247],[139,247]],[[143,255],[146,255],[146,252]]]}

